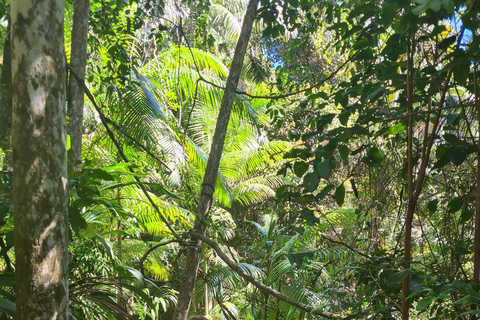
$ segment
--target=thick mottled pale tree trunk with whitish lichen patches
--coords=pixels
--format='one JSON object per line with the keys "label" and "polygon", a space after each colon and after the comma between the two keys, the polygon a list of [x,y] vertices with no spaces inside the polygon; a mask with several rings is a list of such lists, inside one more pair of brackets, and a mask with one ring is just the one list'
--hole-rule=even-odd
{"label": "thick mottled pale tree trunk with whitish lichen patches", "polygon": [[64,1],[11,7],[17,320],[66,320]]}

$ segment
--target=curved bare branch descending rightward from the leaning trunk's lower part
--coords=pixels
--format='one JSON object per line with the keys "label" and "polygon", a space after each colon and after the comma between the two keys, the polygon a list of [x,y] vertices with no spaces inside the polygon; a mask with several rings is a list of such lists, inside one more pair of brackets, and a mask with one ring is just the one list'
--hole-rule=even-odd
{"label": "curved bare branch descending rightward from the leaning trunk's lower part", "polygon": [[258,281],[257,279],[255,279],[254,277],[252,277],[251,275],[249,275],[245,271],[243,271],[232,259],[230,259],[222,251],[222,249],[220,249],[220,246],[216,242],[211,240],[210,238],[208,238],[204,235],[201,235],[197,232],[192,232],[191,236],[192,236],[192,239],[201,240],[201,241],[205,242],[206,244],[208,244],[213,250],[215,250],[215,252],[220,257],[220,259],[222,259],[233,271],[235,271],[243,279],[245,279],[248,282],[250,282],[251,284],[253,284],[260,291],[262,291],[266,294],[270,294],[270,295],[274,296],[275,298],[277,298],[278,300],[283,301],[285,303],[288,303],[289,305],[294,306],[294,307],[296,307],[300,310],[303,310],[303,311],[306,311],[306,312],[309,312],[309,313],[312,313],[312,314],[316,314],[316,315],[322,316],[322,317],[327,318],[327,319],[340,319],[339,317],[335,316],[333,313],[321,311],[321,310],[318,310],[315,307],[312,307],[312,306],[306,305],[302,302],[299,302],[297,300],[294,300],[294,299],[284,295],[283,293],[281,293],[281,292],[263,284],[262,282]]}

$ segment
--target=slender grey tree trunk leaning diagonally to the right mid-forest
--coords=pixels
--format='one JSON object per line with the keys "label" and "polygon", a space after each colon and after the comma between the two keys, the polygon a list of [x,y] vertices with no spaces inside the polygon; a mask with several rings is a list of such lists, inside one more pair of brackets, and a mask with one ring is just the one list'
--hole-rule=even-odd
{"label": "slender grey tree trunk leaning diagonally to the right mid-forest", "polygon": [[[210,206],[212,205],[213,193],[215,191],[215,181],[217,180],[218,167],[222,157],[223,145],[227,133],[230,113],[232,111],[233,99],[237,90],[238,80],[242,71],[243,60],[247,50],[248,40],[252,33],[253,21],[255,20],[258,0],[250,0],[247,12],[243,19],[242,30],[238,38],[235,54],[233,55],[232,65],[228,74],[225,91],[222,98],[222,105],[218,114],[217,125],[213,135],[212,147],[208,157],[205,176],[203,177],[202,190],[195,218],[195,230],[205,234],[207,228],[207,218]],[[196,241],[196,247],[201,245],[201,241]],[[192,301],[195,280],[197,279],[198,265],[200,263],[200,252],[196,248],[188,250],[185,262],[185,270],[178,293],[177,309],[175,310],[175,320],[185,320],[188,317],[188,310]]]}

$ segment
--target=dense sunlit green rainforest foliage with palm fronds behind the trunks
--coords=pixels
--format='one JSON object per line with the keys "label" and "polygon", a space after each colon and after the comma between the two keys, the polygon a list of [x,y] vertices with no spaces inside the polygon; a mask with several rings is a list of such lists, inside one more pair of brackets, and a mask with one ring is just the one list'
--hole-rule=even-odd
{"label": "dense sunlit green rainforest foliage with palm fronds behind the trunks", "polygon": [[[69,163],[75,318],[173,318],[245,10],[91,2],[81,170]],[[475,0],[261,1],[207,221],[213,245],[196,248],[192,315],[480,314],[479,17]],[[5,319],[15,314],[9,153],[0,149]]]}

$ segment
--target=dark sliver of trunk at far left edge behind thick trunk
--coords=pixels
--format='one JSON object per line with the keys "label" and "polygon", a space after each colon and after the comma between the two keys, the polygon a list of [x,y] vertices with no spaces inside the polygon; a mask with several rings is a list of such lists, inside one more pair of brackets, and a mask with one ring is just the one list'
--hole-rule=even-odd
{"label": "dark sliver of trunk at far left edge behind thick trunk", "polygon": [[12,129],[12,57],[10,50],[10,22],[3,46],[3,66],[0,77],[0,148],[5,152],[4,167],[11,166],[10,133]]}

